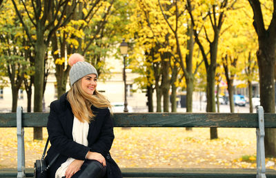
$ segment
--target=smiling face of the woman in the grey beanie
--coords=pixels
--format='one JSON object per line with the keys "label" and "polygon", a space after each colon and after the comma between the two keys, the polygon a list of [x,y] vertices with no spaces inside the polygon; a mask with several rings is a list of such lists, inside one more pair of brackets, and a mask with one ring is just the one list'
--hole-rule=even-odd
{"label": "smiling face of the woman in the grey beanie", "polygon": [[93,95],[97,87],[97,75],[90,74],[81,78],[81,88],[88,95]]}

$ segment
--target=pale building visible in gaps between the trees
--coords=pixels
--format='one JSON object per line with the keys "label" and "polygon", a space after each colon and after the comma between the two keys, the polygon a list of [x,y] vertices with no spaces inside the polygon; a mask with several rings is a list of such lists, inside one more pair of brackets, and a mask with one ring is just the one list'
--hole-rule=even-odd
{"label": "pale building visible in gaps between the trees", "polygon": [[[110,74],[106,77],[106,80],[103,81],[101,76],[99,77],[97,90],[105,95],[111,103],[124,103],[124,81],[123,81],[123,62],[119,59],[108,59],[106,61],[107,65],[110,66]],[[114,67],[112,67],[114,66]],[[147,97],[146,93],[142,92],[138,89],[138,86],[134,83],[135,78],[139,77],[139,74],[132,73],[131,70],[126,70],[126,85],[127,85],[127,99],[128,99],[128,106],[132,109],[133,112],[148,112]],[[67,90],[70,89],[69,81],[68,81]],[[235,94],[241,94],[246,97],[248,101],[248,88],[239,87],[241,84],[240,81],[235,81]],[[244,84],[243,84],[244,85]],[[34,88],[33,88],[34,89]],[[132,90],[135,90],[133,92]],[[34,92],[34,90],[33,90]],[[221,86],[220,93],[224,93],[226,97],[228,97],[227,91],[227,84]],[[276,92],[275,92],[276,93]],[[253,83],[253,97],[259,96],[259,83]],[[32,95],[33,97],[33,95]],[[201,102],[206,102],[205,92],[194,92],[193,93],[193,102],[195,107],[199,107],[200,110],[205,110],[204,106],[201,106]],[[57,88],[56,88],[56,78],[54,73],[51,73],[48,76],[48,82],[46,85],[46,91],[44,93],[43,99],[43,111],[48,112],[49,106],[52,101],[57,99]],[[33,107],[32,98],[32,107]],[[197,102],[198,101],[198,102]],[[198,104],[200,102],[200,105]],[[153,104],[154,104],[154,111],[156,110],[156,94],[153,93]],[[163,102],[161,102],[163,104]],[[177,106],[179,108],[186,108],[186,92],[179,91],[178,99],[177,99]],[[193,105],[194,105],[193,104]],[[19,90],[19,97],[18,97],[18,106],[23,106],[23,110],[27,110],[27,95],[26,91],[20,89]],[[5,88],[0,88],[0,112],[10,112],[12,108],[12,90],[10,86]],[[115,109],[117,112],[119,110],[118,107]],[[180,110],[179,111],[184,111]],[[124,110],[121,110],[124,112]]]}

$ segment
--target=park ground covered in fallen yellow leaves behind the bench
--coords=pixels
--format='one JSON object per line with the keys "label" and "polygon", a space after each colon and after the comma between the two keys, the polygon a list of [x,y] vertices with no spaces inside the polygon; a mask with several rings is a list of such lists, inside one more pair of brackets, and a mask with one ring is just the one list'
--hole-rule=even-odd
{"label": "park ground covered in fallen yellow leaves behind the bench", "polygon": [[[0,168],[17,167],[16,128],[0,128]],[[218,128],[210,140],[209,128],[115,128],[111,155],[121,168],[256,168],[255,128]],[[39,159],[47,139],[32,140],[25,128],[26,168]],[[266,167],[276,170],[276,159]]]}

